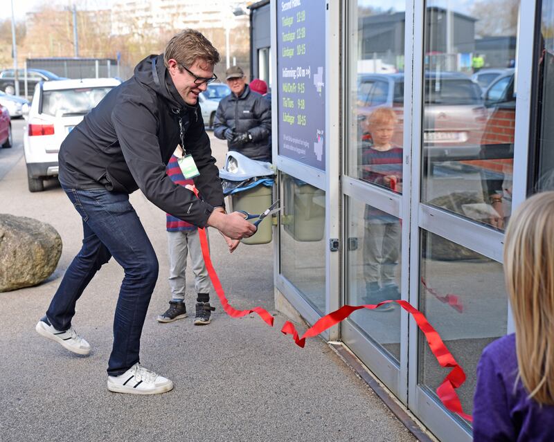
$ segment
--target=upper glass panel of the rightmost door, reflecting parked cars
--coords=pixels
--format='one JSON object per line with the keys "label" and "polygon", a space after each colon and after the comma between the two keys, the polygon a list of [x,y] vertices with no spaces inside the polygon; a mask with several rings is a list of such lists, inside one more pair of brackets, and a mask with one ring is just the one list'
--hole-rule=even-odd
{"label": "upper glass panel of the rightmost door, reflecting parked cars", "polygon": [[503,230],[512,206],[519,0],[429,0],[422,202]]}

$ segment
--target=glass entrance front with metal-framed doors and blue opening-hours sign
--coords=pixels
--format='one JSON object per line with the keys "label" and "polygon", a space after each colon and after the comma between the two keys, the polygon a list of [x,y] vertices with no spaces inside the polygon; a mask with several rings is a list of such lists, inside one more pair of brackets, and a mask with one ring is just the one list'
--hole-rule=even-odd
{"label": "glass entrance front with metal-framed doors and blue opening-hours sign", "polygon": [[[264,75],[271,27],[283,204],[276,309],[315,324],[344,305],[409,302],[463,367],[456,393],[471,414],[481,352],[514,331],[506,225],[527,196],[554,189],[554,0],[269,1],[269,25],[259,3],[252,66]],[[495,77],[482,89],[477,73]],[[438,440],[471,441],[471,421],[440,398],[454,365],[440,367],[392,305],[321,336]]]}

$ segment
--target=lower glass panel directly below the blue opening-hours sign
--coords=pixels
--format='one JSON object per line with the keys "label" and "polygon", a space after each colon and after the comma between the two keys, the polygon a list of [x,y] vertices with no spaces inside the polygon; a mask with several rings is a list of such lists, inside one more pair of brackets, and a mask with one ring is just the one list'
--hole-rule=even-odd
{"label": "lower glass panel directly below the blue opening-hours sign", "polygon": [[325,192],[283,174],[280,268],[316,311],[325,314]]}

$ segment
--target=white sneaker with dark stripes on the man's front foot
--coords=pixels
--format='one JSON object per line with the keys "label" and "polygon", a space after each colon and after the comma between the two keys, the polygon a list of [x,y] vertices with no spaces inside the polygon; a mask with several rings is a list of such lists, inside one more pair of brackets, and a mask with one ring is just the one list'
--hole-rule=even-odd
{"label": "white sneaker with dark stripes on the man's front foot", "polygon": [[173,383],[168,378],[145,369],[137,362],[124,374],[108,376],[108,389],[116,393],[159,394],[173,389]]}

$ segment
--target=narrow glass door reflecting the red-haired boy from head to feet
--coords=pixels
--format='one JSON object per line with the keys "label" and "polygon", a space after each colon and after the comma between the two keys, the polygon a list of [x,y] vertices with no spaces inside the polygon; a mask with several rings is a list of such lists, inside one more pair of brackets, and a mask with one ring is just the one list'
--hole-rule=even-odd
{"label": "narrow glass door reflecting the red-haired boy from head to feet", "polygon": [[[411,100],[405,98],[405,8],[347,2],[345,303],[407,299]],[[411,26],[411,25],[409,25]],[[406,106],[406,104],[408,104]],[[407,192],[407,194],[406,194]],[[404,197],[403,194],[406,194]],[[403,241],[403,237],[405,238]],[[341,328],[352,351],[406,403],[407,317],[397,304],[352,313]]]}

